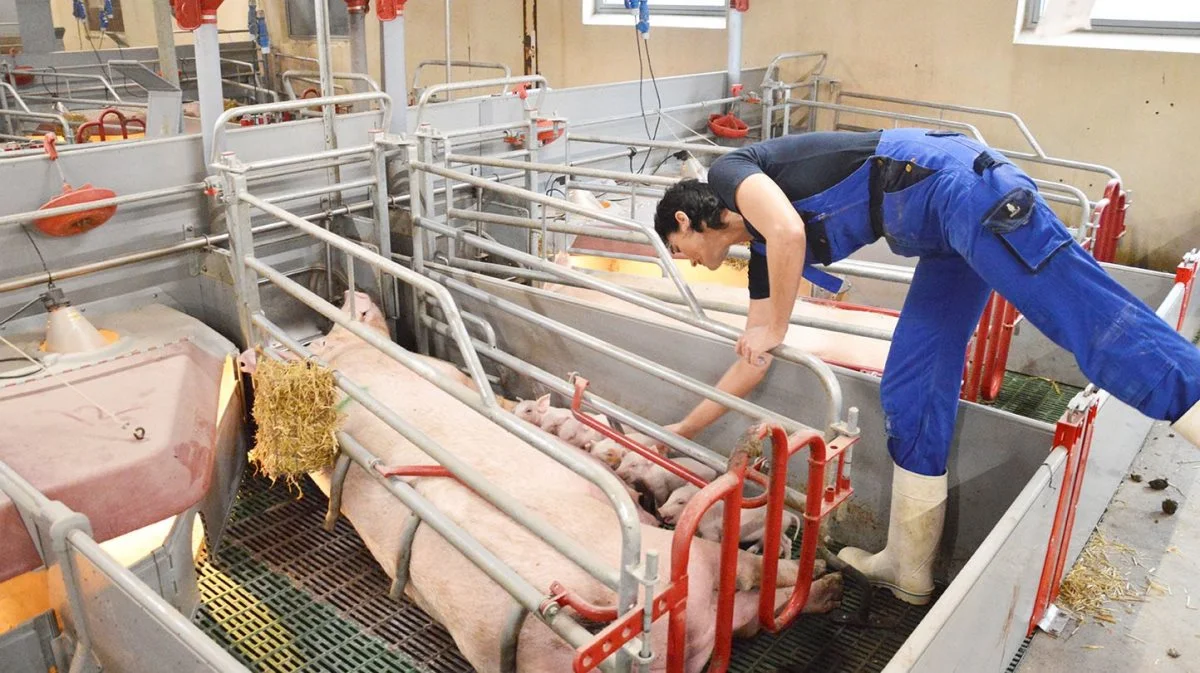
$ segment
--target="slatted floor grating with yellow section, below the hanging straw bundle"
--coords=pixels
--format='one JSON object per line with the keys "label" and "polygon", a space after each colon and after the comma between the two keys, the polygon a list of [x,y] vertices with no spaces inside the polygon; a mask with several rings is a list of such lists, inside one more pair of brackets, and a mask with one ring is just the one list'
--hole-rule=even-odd
{"label": "slatted floor grating with yellow section, below the hanging straw bundle", "polygon": [[470,673],[450,635],[407,600],[326,499],[247,476],[217,558],[197,564],[197,625],[251,671]]}

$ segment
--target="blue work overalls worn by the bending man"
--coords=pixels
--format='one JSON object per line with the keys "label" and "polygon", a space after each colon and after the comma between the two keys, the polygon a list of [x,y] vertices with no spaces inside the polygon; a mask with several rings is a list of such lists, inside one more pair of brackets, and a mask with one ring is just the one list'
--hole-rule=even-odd
{"label": "blue work overalls worn by the bending man", "polygon": [[[1175,421],[1200,399],[1200,350],[1072,239],[1024,172],[979,143],[884,131],[854,173],[793,205],[808,232],[805,277],[817,284],[814,263],[881,236],[919,258],[881,389],[888,450],[906,470],[946,471],[966,347],[990,289],[1142,414]],[[766,241],[750,230],[761,254]]]}

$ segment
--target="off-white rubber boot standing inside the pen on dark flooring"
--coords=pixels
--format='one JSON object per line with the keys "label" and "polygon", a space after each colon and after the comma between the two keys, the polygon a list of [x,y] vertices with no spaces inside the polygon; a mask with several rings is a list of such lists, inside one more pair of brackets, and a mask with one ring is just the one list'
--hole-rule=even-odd
{"label": "off-white rubber boot standing inside the pen on dark flooring", "polygon": [[[1195,422],[1200,428],[1200,414]],[[887,546],[877,554],[846,547],[838,558],[901,601],[925,605],[934,594],[934,557],[944,521],[946,475],[924,476],[895,465]]]}

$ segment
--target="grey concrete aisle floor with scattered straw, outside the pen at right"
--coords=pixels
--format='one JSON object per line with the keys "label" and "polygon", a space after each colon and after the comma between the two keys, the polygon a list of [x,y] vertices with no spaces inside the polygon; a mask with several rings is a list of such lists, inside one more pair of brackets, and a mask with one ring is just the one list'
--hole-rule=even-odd
{"label": "grey concrete aisle floor with scattered straw, outside the pen at right", "polygon": [[[1109,558],[1145,599],[1110,603],[1116,624],[1087,619],[1058,638],[1039,631],[1018,673],[1200,671],[1200,449],[1154,423],[1130,471],[1142,482],[1121,485],[1098,530],[1138,551],[1136,561]],[[1147,482],[1157,477],[1170,486],[1152,491]],[[1174,516],[1163,513],[1164,498],[1178,501]],[[1148,578],[1169,593],[1147,593]]]}

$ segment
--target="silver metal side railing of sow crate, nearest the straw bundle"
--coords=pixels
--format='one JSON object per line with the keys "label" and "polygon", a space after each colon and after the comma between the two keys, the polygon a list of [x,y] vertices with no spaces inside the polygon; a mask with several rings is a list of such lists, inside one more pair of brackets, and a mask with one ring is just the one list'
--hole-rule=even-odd
{"label": "silver metal side railing of sow crate, nearest the straw bundle", "polygon": [[[386,150],[386,146],[377,142],[374,146],[374,160],[377,162],[377,167],[383,166],[385,162]],[[617,567],[612,567],[602,563],[600,559],[593,558],[589,552],[580,547],[572,540],[568,539],[563,533],[545,523],[539,516],[527,511],[518,501],[506,495],[504,492],[498,491],[494,486],[490,485],[481,474],[474,470],[474,468],[456,458],[451,451],[448,451],[445,447],[442,447],[433,441],[430,437],[425,435],[420,428],[416,428],[408,421],[396,415],[391,409],[355,385],[343,374],[335,374],[337,386],[348,396],[358,401],[364,405],[364,408],[383,420],[383,422],[385,422],[389,427],[401,433],[401,435],[412,440],[418,447],[444,465],[450,474],[468,485],[480,497],[487,499],[494,506],[509,515],[514,521],[538,534],[551,547],[566,554],[569,558],[575,559],[581,567],[596,577],[605,585],[614,589],[617,591],[618,605],[622,611],[631,609],[637,600],[637,589],[640,585],[638,578],[632,573],[632,569],[641,559],[641,524],[638,522],[637,510],[626,493],[624,485],[604,465],[589,461],[576,450],[568,447],[565,444],[550,438],[538,429],[534,429],[532,426],[523,423],[517,420],[516,416],[499,408],[475,353],[473,339],[467,332],[462,312],[451,299],[449,290],[428,277],[401,266],[390,259],[390,250],[385,242],[390,235],[388,229],[389,199],[386,197],[385,184],[380,182],[377,186],[373,199],[377,206],[376,235],[379,236],[380,242],[383,244],[379,246],[382,252],[380,254],[342,239],[341,236],[330,234],[325,229],[311,224],[304,218],[275,206],[264,199],[254,197],[248,192],[246,186],[248,178],[247,167],[239,164],[234,156],[222,156],[216,168],[223,178],[223,198],[226,200],[227,223],[230,232],[229,244],[234,262],[233,271],[235,292],[239,296],[239,314],[247,342],[251,344],[262,343],[264,336],[270,336],[286,347],[292,348],[304,357],[310,357],[312,355],[302,347],[290,341],[286,332],[274,325],[263,314],[258,301],[258,278],[266,278],[284,293],[299,300],[301,304],[313,308],[322,316],[332,320],[335,324],[341,325],[352,334],[365,339],[367,343],[374,345],[389,357],[450,393],[467,407],[488,417],[492,422],[499,425],[506,432],[518,437],[523,441],[527,441],[539,451],[546,453],[576,474],[580,474],[588,481],[596,485],[596,487],[599,487],[612,503],[622,530],[622,558]],[[377,172],[377,175],[380,180],[383,180],[384,173],[382,170]],[[307,235],[332,246],[340,253],[347,256],[348,269],[353,269],[352,259],[358,260],[373,268],[376,271],[394,278],[394,282],[404,283],[414,292],[422,293],[431,301],[433,301],[440,308],[445,324],[449,326],[450,334],[454,336],[454,341],[458,344],[458,355],[466,362],[467,369],[470,373],[479,392],[475,393],[452,381],[444,374],[430,367],[416,355],[392,343],[386,335],[374,332],[364,328],[361,323],[353,322],[346,313],[336,308],[334,305],[312,294],[298,283],[289,281],[283,274],[257,259],[253,256],[253,241],[250,228],[248,216],[251,209],[257,209],[276,216],[287,226],[299,229]],[[352,287],[349,296],[353,298],[353,271],[349,275],[349,284]],[[372,456],[365,447],[359,445],[354,438],[342,434],[340,435],[340,440],[342,450],[348,459],[362,465],[368,470],[368,473],[376,471],[376,457]],[[526,611],[546,621],[552,630],[571,643],[572,647],[581,647],[592,639],[590,635],[572,619],[566,618],[563,614],[558,614],[551,619],[551,615],[544,614],[542,607],[550,596],[529,585],[528,582],[517,576],[499,558],[484,549],[467,531],[462,530],[449,518],[438,512],[432,503],[422,498],[415,491],[412,491],[398,480],[385,477],[378,479],[385,482],[385,486],[392,492],[394,495],[409,506],[410,510],[416,512],[424,523],[427,523],[443,535],[451,545],[458,548],[463,555],[487,573],[490,578],[497,582],[500,587],[505,588],[505,590],[508,590]],[[516,632],[514,632],[514,636],[515,633]],[[605,668],[613,669],[613,666],[607,665]]]}

